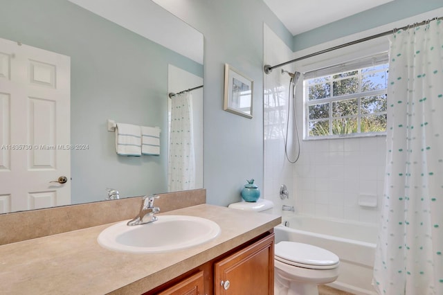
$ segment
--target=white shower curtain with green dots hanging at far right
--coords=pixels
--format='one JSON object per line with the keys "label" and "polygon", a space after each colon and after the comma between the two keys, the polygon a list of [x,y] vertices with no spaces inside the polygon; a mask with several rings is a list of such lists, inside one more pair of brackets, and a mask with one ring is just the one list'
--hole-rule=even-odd
{"label": "white shower curtain with green dots hanging at far right", "polygon": [[391,37],[379,294],[443,294],[443,24]]}

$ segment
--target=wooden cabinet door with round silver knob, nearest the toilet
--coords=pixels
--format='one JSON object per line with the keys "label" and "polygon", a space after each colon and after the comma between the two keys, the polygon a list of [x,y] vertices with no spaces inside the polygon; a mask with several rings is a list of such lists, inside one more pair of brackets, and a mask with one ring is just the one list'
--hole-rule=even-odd
{"label": "wooden cabinet door with round silver knob, nearest the toilet", "polygon": [[215,295],[272,295],[274,291],[274,234],[214,265]]}

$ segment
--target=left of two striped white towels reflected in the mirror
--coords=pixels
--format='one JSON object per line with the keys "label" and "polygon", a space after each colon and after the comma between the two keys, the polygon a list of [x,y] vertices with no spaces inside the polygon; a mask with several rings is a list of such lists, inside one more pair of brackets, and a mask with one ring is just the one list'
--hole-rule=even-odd
{"label": "left of two striped white towels reflected in the mirror", "polygon": [[117,123],[116,152],[122,156],[141,156],[140,126]]}

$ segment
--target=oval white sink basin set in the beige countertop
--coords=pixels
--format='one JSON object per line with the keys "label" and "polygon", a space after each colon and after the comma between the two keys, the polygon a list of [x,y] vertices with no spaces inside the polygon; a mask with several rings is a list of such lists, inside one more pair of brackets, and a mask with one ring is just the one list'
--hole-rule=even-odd
{"label": "oval white sink basin set in the beige countertop", "polygon": [[220,226],[211,220],[187,215],[157,215],[149,224],[109,226],[98,235],[100,246],[129,253],[161,253],[186,249],[213,240]]}

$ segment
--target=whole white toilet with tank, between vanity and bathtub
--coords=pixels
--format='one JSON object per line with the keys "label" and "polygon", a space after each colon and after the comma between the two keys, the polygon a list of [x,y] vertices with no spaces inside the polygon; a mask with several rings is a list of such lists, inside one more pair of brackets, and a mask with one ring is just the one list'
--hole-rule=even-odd
{"label": "whole white toilet with tank, between vanity and bathtub", "polygon": [[[258,199],[228,207],[271,213],[273,203]],[[325,249],[298,242],[278,242],[274,249],[274,294],[318,295],[318,285],[332,283],[338,278],[339,264],[338,256]]]}

